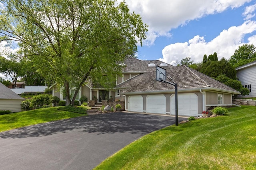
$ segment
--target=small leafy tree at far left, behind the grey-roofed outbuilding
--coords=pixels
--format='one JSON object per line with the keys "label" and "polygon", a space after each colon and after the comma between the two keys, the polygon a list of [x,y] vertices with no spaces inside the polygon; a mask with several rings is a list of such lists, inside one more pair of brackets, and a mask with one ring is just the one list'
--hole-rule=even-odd
{"label": "small leafy tree at far left, behind the grey-roofed outbuilding", "polygon": [[11,54],[8,59],[0,56],[0,73],[12,78],[14,88],[16,87],[16,82],[20,77],[20,68],[21,64],[19,61],[17,61],[14,54]]}

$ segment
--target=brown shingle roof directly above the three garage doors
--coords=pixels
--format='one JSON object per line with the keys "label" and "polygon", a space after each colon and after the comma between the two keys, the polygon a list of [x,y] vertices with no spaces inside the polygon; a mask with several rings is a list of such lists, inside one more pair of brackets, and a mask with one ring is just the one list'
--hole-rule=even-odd
{"label": "brown shingle roof directly above the three garage doors", "polygon": [[[172,77],[174,82],[178,84],[179,90],[191,90],[191,89],[218,89],[227,91],[234,94],[240,94],[240,92],[226,86],[225,84],[202,74],[187,66],[177,66],[166,68],[168,75]],[[170,81],[170,80],[167,80]],[[116,86],[118,89],[126,88],[122,93],[145,93],[145,92],[166,92],[174,91],[174,86],[156,81],[156,68],[151,72],[140,74],[122,84]]]}

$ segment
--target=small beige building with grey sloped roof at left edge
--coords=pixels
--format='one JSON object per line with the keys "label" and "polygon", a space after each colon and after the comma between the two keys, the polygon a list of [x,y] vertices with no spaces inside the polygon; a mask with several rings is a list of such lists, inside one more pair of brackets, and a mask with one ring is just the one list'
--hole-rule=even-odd
{"label": "small beige building with grey sloped roof at left edge", "polygon": [[21,111],[23,98],[0,83],[0,110]]}

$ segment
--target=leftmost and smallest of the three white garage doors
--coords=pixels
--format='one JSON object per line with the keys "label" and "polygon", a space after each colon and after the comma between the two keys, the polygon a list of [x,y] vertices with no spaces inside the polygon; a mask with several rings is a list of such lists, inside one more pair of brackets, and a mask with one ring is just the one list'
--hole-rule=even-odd
{"label": "leftmost and smallest of the three white garage doors", "polygon": [[128,111],[143,112],[143,97],[129,96],[128,97]]}

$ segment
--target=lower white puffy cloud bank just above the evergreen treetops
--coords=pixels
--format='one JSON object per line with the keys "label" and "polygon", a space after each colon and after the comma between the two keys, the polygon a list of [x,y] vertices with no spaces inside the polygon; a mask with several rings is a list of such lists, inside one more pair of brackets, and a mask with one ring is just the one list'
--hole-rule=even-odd
{"label": "lower white puffy cloud bank just above the evergreen treetops", "polygon": [[[229,59],[234,54],[235,49],[239,45],[244,44],[244,36],[256,30],[256,21],[245,21],[240,26],[230,27],[223,30],[220,35],[210,42],[206,42],[204,37],[196,35],[188,42],[174,43],[166,46],[162,50],[163,58],[160,59],[166,63],[174,63],[174,61],[185,57],[191,57],[195,63],[201,62],[204,54],[211,55],[217,53],[218,59],[222,57]],[[248,38],[249,43],[256,45],[256,35]]]}

